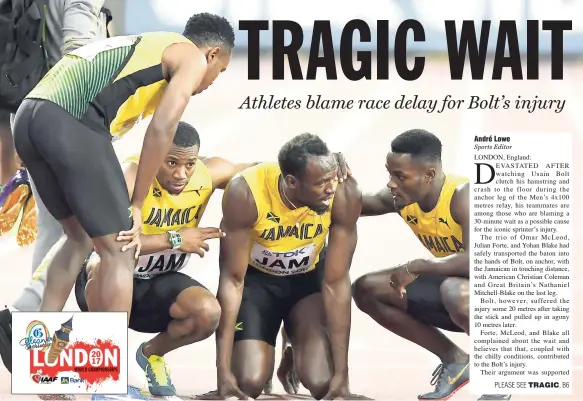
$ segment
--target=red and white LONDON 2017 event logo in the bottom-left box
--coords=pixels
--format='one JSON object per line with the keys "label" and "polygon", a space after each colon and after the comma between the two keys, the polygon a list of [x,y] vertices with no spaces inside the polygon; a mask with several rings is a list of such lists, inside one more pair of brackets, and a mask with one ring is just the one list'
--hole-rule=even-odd
{"label": "red and white LONDON 2017 event logo in the bottom-left box", "polygon": [[[111,390],[113,385],[125,393],[127,367],[124,365],[127,365],[127,355],[124,353],[127,354],[127,334],[125,344],[116,341],[113,338],[116,336],[87,336],[86,334],[91,333],[87,327],[83,327],[82,332],[78,333],[80,335],[77,335],[77,331],[81,331],[81,323],[87,324],[91,320],[83,319],[83,322],[78,322],[79,315],[74,315],[69,313],[66,320],[60,320],[60,324],[55,324],[55,319],[51,319],[52,324],[48,320],[29,320],[25,336],[18,344],[13,345],[13,353],[24,350],[24,355],[19,352],[17,357],[26,362],[26,375],[30,378],[28,383],[38,388],[33,390],[30,386],[25,387],[31,392],[46,394],[111,394],[116,392]],[[125,325],[125,317],[123,323]],[[13,324],[16,334],[15,326]],[[54,332],[51,333],[51,329]],[[124,329],[127,333],[127,328]],[[15,350],[15,347],[20,349]],[[15,370],[13,373],[14,393],[21,393],[18,386],[14,391],[14,376],[21,372]],[[21,394],[28,391],[23,390]]]}

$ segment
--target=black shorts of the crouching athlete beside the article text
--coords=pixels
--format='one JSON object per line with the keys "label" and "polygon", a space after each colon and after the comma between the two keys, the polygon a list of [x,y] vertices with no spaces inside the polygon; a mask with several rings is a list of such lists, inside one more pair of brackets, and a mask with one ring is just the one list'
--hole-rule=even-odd
{"label": "black shorts of the crouching athlete beside the article text", "polygon": [[441,299],[439,287],[445,276],[420,275],[407,286],[407,313],[415,319],[443,330],[463,332],[451,320]]}

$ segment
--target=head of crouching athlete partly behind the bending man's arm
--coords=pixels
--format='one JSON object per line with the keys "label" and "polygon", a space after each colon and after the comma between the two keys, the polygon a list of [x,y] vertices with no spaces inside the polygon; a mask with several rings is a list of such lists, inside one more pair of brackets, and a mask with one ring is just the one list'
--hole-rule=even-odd
{"label": "head of crouching athlete partly behind the bending man's arm", "polygon": [[196,129],[183,121],[179,122],[172,148],[156,175],[162,188],[173,195],[182,192],[194,174],[199,148],[200,137]]}

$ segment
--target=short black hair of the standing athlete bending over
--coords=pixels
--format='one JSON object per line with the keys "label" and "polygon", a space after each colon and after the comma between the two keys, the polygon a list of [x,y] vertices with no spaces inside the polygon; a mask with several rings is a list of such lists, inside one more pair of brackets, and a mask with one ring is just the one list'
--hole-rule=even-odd
{"label": "short black hair of the standing athlete bending over", "polygon": [[233,27],[215,14],[194,14],[186,23],[183,35],[197,46],[221,47],[229,53],[235,47]]}

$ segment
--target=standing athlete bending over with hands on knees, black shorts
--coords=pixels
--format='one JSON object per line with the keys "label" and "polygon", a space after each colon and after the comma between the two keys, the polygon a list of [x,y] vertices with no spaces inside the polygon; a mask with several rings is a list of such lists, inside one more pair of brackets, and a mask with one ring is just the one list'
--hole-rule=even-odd
{"label": "standing athlete bending over with hands on knees, black shorts", "polygon": [[[79,266],[95,249],[101,266],[90,288],[92,310],[127,311],[129,319],[148,188],[190,98],[227,68],[234,37],[227,20],[202,13],[183,34],[96,41],[61,59],[24,100],[15,145],[66,234],[55,245],[41,311],[62,310]],[[111,142],[152,114],[130,202]]]}

